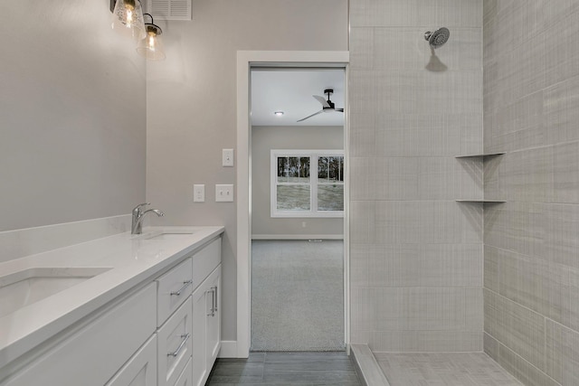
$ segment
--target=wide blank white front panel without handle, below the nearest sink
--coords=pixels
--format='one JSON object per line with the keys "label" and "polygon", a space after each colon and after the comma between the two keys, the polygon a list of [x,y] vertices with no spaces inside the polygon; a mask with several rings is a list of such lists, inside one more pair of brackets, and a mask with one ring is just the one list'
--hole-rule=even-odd
{"label": "wide blank white front panel without handle, below the nearest sink", "polygon": [[151,283],[2,384],[102,386],[155,333],[156,296],[156,286]]}

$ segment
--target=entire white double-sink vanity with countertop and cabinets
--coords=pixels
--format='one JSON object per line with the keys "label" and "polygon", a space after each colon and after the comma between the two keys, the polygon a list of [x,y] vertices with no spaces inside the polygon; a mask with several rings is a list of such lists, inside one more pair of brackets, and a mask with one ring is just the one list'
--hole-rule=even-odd
{"label": "entire white double-sink vanity with countertop and cabinets", "polygon": [[0,263],[0,385],[203,385],[222,233],[147,229]]}

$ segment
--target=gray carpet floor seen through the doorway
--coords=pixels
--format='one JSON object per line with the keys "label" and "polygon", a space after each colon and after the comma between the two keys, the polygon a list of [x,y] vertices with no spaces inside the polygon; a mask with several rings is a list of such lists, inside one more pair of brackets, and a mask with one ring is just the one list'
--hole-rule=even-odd
{"label": "gray carpet floor seen through the doorway", "polygon": [[251,349],[345,349],[342,240],[252,241]]}

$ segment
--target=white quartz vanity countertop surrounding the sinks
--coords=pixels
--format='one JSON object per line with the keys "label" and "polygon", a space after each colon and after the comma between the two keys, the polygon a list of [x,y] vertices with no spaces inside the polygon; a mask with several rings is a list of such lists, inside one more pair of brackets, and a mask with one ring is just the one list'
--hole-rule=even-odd
{"label": "white quartz vanity countertop surrounding the sinks", "polygon": [[[222,226],[152,227],[0,263],[0,277],[28,268],[109,268],[0,317],[0,368],[221,233]],[[190,234],[186,234],[186,233]],[[181,233],[157,237],[161,233]]]}

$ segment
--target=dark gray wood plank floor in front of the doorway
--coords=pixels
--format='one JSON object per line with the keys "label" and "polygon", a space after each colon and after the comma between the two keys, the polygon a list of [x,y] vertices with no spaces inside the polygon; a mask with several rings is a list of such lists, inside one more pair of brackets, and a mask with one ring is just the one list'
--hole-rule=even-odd
{"label": "dark gray wood plank floor in front of the doorway", "polygon": [[248,359],[218,359],[206,383],[231,385],[360,386],[346,353],[251,353]]}

